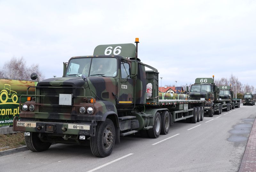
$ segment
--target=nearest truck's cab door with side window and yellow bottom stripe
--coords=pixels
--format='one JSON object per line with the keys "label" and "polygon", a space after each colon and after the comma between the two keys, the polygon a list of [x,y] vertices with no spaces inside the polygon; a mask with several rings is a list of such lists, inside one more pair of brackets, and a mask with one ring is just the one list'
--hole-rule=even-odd
{"label": "nearest truck's cab door with side window and yellow bottom stripe", "polygon": [[130,75],[131,62],[121,61],[118,104],[132,104],[133,80]]}

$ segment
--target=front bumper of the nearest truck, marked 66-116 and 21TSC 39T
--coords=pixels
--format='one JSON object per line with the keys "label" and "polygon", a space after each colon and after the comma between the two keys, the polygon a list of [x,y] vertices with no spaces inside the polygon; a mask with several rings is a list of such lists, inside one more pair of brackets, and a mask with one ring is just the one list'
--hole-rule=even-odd
{"label": "front bumper of the nearest truck, marked 66-116 and 21TSC 39T", "polygon": [[95,120],[83,123],[60,123],[19,121],[17,116],[13,119],[13,131],[95,136],[95,128]]}

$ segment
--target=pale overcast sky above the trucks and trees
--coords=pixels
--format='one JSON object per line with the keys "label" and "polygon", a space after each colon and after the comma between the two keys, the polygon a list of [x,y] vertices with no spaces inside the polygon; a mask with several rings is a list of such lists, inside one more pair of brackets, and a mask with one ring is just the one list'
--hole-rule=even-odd
{"label": "pale overcast sky above the trucks and trees", "polygon": [[[0,0],[0,67],[13,56],[62,76],[72,56],[133,43],[162,86],[229,78],[256,87],[256,1]],[[159,85],[161,81],[159,81]]]}

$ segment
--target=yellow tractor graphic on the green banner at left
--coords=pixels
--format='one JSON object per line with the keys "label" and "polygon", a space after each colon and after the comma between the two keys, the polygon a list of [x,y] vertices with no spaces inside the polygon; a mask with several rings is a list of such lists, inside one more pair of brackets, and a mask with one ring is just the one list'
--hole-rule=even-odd
{"label": "yellow tractor graphic on the green banner at left", "polygon": [[12,102],[16,103],[18,101],[17,92],[12,91],[9,84],[4,84],[4,89],[0,92],[0,101],[6,103],[8,99],[12,99]]}

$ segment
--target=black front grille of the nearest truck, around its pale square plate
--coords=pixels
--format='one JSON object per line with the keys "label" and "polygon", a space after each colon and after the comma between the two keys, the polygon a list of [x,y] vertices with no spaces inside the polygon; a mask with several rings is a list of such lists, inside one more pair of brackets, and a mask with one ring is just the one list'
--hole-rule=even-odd
{"label": "black front grille of the nearest truck, around its pale square plate", "polygon": [[[45,86],[45,85],[44,85]],[[55,104],[59,105],[59,94],[72,94],[73,88],[72,86],[62,85],[59,88],[52,88],[52,86],[48,86],[47,88],[40,88],[41,89],[41,96],[40,103],[41,104]],[[62,87],[70,87],[70,88],[62,88]],[[48,96],[48,95],[56,95]],[[71,106],[50,106],[50,105],[41,105],[40,112],[49,112],[49,113],[71,113],[72,107]]]}

